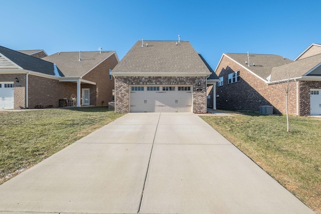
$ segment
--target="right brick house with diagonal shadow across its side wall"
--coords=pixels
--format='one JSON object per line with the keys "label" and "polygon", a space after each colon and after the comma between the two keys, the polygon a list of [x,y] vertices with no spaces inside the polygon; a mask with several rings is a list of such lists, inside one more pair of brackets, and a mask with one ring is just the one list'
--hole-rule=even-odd
{"label": "right brick house with diagonal shadow across its side wall", "polygon": [[259,111],[273,106],[285,114],[321,114],[321,45],[312,44],[294,61],[279,55],[223,54],[215,73],[217,108]]}

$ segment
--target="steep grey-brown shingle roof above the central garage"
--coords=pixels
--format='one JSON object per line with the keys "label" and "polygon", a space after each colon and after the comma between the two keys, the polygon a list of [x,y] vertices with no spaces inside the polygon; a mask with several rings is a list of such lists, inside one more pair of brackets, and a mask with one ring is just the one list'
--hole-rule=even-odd
{"label": "steep grey-brown shingle roof above the central garage", "polygon": [[[113,73],[209,73],[189,42],[137,41],[113,69]],[[148,47],[146,46],[148,44]]]}

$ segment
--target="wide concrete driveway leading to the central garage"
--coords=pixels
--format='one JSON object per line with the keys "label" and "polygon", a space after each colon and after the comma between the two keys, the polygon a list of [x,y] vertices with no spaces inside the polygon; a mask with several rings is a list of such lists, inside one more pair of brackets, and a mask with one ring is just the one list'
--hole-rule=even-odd
{"label": "wide concrete driveway leading to the central garage", "polygon": [[1,213],[314,213],[193,113],[129,113],[0,185]]}

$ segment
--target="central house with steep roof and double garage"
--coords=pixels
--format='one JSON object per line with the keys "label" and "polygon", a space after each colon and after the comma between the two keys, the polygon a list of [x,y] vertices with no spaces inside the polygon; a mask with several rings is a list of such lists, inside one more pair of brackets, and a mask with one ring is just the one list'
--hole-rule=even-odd
{"label": "central house with steep roof and double garage", "polygon": [[136,42],[111,73],[115,111],[207,112],[204,61],[187,41]]}

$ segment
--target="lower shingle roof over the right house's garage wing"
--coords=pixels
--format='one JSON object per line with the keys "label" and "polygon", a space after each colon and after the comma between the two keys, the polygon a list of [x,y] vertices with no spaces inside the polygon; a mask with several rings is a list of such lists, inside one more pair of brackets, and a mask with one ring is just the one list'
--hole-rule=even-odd
{"label": "lower shingle roof over the right house's garage wing", "polygon": [[297,78],[309,72],[312,68],[321,63],[321,54],[296,60],[287,65],[274,67],[271,72],[271,82],[287,78]]}

